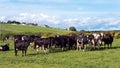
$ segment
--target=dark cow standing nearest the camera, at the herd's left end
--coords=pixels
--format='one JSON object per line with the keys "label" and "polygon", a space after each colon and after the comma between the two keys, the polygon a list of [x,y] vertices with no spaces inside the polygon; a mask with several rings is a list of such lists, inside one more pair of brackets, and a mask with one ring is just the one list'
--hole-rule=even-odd
{"label": "dark cow standing nearest the camera, at the herd's left end", "polygon": [[18,39],[14,39],[14,50],[15,50],[15,56],[17,56],[17,52],[19,50],[22,51],[22,56],[26,56],[26,52],[28,49],[28,46],[30,45],[29,37],[25,37],[26,39],[20,40],[20,37]]}

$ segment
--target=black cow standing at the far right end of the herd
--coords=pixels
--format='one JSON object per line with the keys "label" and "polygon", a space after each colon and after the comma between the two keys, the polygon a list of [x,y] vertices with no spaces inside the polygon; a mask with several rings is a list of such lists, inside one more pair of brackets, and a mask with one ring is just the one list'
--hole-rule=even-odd
{"label": "black cow standing at the far right end of the herd", "polygon": [[108,32],[108,33],[104,33],[103,39],[102,41],[104,42],[104,47],[106,47],[106,45],[108,47],[112,47],[112,43],[113,43],[113,36]]}

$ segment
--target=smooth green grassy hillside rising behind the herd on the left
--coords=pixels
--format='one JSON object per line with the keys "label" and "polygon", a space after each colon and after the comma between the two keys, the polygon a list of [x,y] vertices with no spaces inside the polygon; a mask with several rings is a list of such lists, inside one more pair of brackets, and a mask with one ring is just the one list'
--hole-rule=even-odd
{"label": "smooth green grassy hillside rising behind the herd on the left", "polygon": [[45,28],[40,26],[23,26],[23,25],[10,25],[10,24],[0,24],[0,28],[2,28],[2,33],[12,32],[12,33],[60,33],[66,34],[70,31],[56,29],[56,28]]}

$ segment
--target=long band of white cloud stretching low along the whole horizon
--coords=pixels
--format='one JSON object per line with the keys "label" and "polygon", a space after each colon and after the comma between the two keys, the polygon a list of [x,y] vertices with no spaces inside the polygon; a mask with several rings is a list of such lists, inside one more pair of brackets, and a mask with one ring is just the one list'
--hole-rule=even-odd
{"label": "long band of white cloud stretching low along the whole horizon", "polygon": [[62,18],[47,14],[20,13],[17,16],[1,16],[0,21],[16,20],[20,22],[38,23],[39,25],[50,25],[52,27],[69,28],[70,26],[84,30],[114,30],[120,29],[120,18],[115,17],[81,17],[81,18]]}

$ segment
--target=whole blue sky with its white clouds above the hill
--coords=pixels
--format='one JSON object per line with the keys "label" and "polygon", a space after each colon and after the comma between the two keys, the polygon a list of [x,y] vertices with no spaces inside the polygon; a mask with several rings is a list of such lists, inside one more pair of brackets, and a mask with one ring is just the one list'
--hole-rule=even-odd
{"label": "whole blue sky with its white clouds above the hill", "polygon": [[120,30],[120,0],[0,0],[0,21]]}

